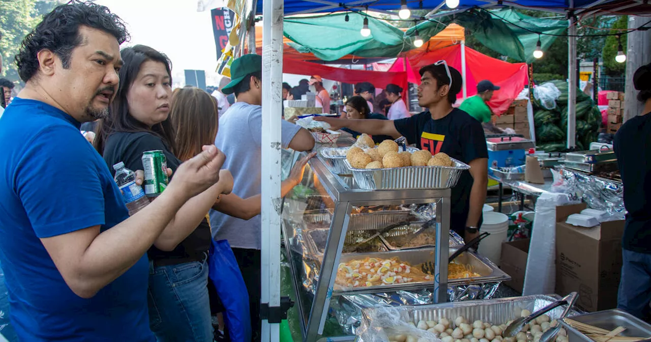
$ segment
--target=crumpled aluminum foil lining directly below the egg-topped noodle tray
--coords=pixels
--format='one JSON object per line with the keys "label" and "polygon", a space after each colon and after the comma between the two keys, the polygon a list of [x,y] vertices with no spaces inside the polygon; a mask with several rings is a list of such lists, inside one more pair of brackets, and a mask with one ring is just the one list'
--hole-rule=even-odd
{"label": "crumpled aluminum foil lining directly below the egg-topped noodle tray", "polygon": [[[500,283],[484,283],[448,287],[448,301],[485,300],[493,298]],[[369,307],[402,307],[433,304],[432,289],[380,292],[375,294],[346,294],[333,298],[330,313],[347,334],[359,335],[362,310]]]}

